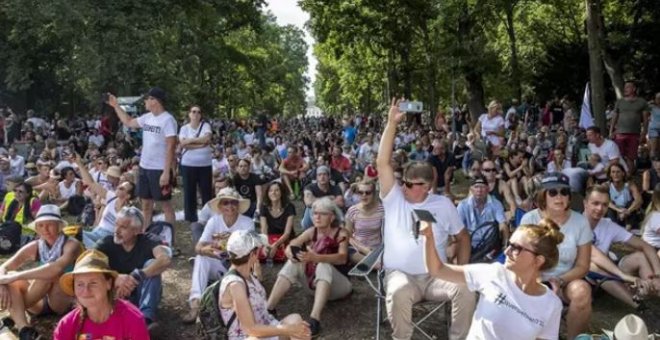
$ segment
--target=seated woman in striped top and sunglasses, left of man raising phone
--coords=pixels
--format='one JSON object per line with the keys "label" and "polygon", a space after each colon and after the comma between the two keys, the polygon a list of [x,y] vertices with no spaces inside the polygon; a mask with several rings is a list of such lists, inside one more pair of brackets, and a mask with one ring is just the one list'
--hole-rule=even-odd
{"label": "seated woman in striped top and sunglasses, left of man raising phone", "polygon": [[345,228],[350,235],[348,249],[350,261],[358,263],[371,249],[383,243],[381,227],[385,210],[376,199],[376,184],[371,181],[358,183],[360,202],[348,208]]}

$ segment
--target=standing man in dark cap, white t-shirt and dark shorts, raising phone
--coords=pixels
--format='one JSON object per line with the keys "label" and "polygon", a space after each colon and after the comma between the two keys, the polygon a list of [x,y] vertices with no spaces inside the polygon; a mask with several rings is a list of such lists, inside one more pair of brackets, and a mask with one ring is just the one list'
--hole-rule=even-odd
{"label": "standing man in dark cap, white t-shirt and dark shorts, raising phone", "polygon": [[[108,104],[115,109],[121,122],[129,128],[141,128],[142,155],[137,181],[137,196],[142,200],[144,229],[151,224],[154,201],[161,202],[165,220],[174,225],[172,208],[172,181],[174,150],[176,148],[177,124],[165,110],[167,95],[160,87],[153,87],[144,97],[144,106],[149,111],[138,118],[129,116],[109,94]],[[172,230],[174,243],[174,230]]]}

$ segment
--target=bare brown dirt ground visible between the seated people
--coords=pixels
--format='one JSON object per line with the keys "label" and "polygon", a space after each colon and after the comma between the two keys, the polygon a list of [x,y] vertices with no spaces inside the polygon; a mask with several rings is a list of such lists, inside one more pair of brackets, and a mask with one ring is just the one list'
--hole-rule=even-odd
{"label": "bare brown dirt ground visible between the seated people", "polygon": [[[458,191],[465,192],[465,186],[458,186]],[[181,205],[180,194],[177,195],[177,205]],[[296,202],[296,208],[299,215],[302,215],[301,204]],[[298,221],[296,221],[298,225]],[[177,241],[183,255],[175,258],[172,268],[170,268],[163,278],[163,301],[159,311],[160,329],[157,339],[196,339],[195,326],[184,325],[181,317],[187,311],[187,299],[190,289],[190,278],[192,275],[192,266],[187,258],[193,255],[190,231],[186,224],[177,223]],[[264,266],[265,282],[264,286],[269,290],[275,282],[277,271],[281,265],[275,265],[273,268]],[[346,300],[330,302],[321,320],[322,331],[318,339],[374,339],[375,338],[375,320],[376,303],[374,293],[363,280],[351,279],[354,293]],[[652,319],[647,319],[650,329],[656,331],[660,329],[658,315],[660,315],[660,299],[648,301],[650,312],[645,315],[652,315]],[[301,290],[292,289],[278,306],[280,317],[289,313],[300,313],[307,317],[311,310],[312,297],[302,293]],[[599,332],[601,328],[613,329],[616,322],[628,313],[634,312],[621,303],[618,303],[611,297],[600,296],[593,305],[593,317],[591,329],[593,332]],[[48,335],[57,322],[55,317],[47,317],[37,321],[37,327],[41,334]],[[437,339],[446,339],[446,330],[443,317],[437,316],[427,320],[425,323],[427,332],[436,335]],[[564,323],[562,323],[562,333],[564,332]],[[390,338],[390,327],[386,322],[382,325],[381,337]],[[422,339],[419,332],[416,332],[413,339]]]}

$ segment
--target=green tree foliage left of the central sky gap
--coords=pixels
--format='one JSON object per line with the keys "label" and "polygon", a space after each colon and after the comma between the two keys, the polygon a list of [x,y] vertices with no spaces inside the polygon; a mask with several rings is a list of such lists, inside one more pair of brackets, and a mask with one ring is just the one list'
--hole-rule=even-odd
{"label": "green tree foliage left of the central sky gap", "polygon": [[303,32],[264,0],[21,1],[0,4],[1,100],[81,113],[99,94],[160,86],[169,109],[232,115],[304,110]]}

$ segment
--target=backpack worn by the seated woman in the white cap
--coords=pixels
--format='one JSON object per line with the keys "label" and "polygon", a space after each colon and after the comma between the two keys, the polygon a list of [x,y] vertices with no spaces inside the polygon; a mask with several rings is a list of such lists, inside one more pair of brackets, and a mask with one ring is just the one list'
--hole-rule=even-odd
{"label": "backpack worn by the seated woman in the white cap", "polygon": [[[232,269],[225,275],[236,275],[243,279],[247,289],[248,298],[250,298],[250,289],[247,281],[236,270]],[[227,331],[236,320],[236,312],[231,314],[229,321],[225,321],[220,316],[220,283],[218,280],[206,287],[202,298],[199,301],[199,323],[197,324],[197,334],[206,340],[224,340],[228,339]]]}

